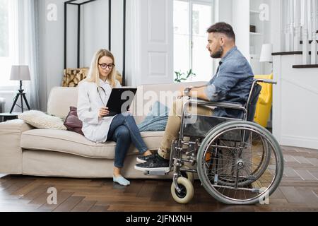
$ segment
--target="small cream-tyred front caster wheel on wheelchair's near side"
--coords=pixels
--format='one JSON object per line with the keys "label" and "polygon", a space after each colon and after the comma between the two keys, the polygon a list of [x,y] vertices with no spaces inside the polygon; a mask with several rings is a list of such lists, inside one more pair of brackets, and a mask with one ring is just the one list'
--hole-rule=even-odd
{"label": "small cream-tyred front caster wheel on wheelchair's near side", "polygon": [[189,203],[189,201],[191,201],[194,196],[194,187],[192,183],[189,181],[189,179],[185,177],[178,177],[177,183],[181,191],[178,192],[175,189],[175,184],[172,182],[171,184],[172,198],[175,199],[177,203],[182,203],[182,204]]}

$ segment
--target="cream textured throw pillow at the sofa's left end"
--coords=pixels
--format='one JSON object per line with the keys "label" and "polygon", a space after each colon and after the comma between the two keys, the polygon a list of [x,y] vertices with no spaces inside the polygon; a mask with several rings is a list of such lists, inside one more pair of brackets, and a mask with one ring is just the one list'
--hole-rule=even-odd
{"label": "cream textured throw pillow at the sofa's left end", "polygon": [[45,114],[36,110],[30,110],[18,115],[18,119],[22,119],[27,124],[39,129],[61,129],[66,130],[64,121],[59,117]]}

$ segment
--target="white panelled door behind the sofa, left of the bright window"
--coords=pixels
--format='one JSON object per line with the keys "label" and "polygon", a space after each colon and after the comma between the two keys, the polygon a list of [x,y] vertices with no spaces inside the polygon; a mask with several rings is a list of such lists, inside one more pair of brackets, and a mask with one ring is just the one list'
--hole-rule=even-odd
{"label": "white panelled door behind the sofa, left of the bright window", "polygon": [[129,85],[173,82],[173,1],[130,1]]}

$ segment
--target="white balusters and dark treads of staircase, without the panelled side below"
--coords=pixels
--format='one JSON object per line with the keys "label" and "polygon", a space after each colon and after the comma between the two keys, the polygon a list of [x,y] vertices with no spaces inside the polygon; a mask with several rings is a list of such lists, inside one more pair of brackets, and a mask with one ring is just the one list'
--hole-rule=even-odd
{"label": "white balusters and dark treads of staircase, without the panelled side below", "polygon": [[317,0],[282,0],[282,6],[281,21],[285,22],[282,26],[285,51],[274,52],[273,56],[301,55],[301,61],[295,57],[297,62],[293,64],[294,69],[318,67]]}

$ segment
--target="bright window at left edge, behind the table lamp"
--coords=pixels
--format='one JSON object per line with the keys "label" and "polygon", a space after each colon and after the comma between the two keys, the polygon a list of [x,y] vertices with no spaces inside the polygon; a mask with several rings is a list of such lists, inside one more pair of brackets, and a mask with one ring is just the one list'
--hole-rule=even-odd
{"label": "bright window at left edge, behind the table lamp", "polygon": [[17,13],[16,1],[0,0],[0,86],[16,85],[10,81],[11,65],[16,59]]}

